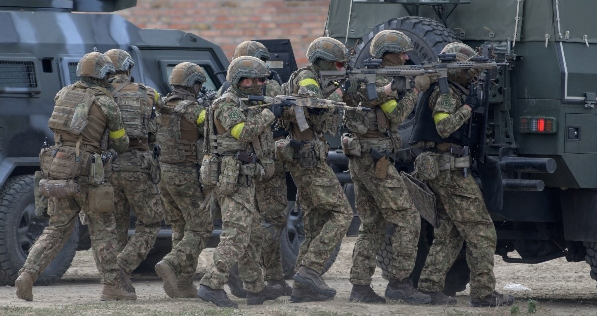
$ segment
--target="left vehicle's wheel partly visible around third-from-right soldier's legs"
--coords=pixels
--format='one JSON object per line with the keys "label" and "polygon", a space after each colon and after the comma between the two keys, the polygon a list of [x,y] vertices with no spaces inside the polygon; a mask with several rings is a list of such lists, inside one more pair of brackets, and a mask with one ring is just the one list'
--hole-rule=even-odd
{"label": "left vehicle's wheel partly visible around third-from-right soldier's legs", "polygon": [[[294,275],[294,265],[296,264],[298,248],[304,241],[304,226],[303,226],[303,211],[300,204],[295,201],[288,201],[286,227],[282,229],[280,235],[280,251],[282,253],[282,271],[284,271],[284,278],[291,279]],[[340,251],[340,244],[336,246],[336,250],[332,253],[330,259],[325,262],[323,273],[336,262],[336,257]]]}

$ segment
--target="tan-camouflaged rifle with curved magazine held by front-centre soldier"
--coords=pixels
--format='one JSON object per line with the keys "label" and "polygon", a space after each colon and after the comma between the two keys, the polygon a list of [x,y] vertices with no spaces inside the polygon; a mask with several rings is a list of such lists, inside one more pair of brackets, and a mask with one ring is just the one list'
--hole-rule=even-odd
{"label": "tan-camouflaged rifle with curved magazine held by front-centre soldier", "polygon": [[287,105],[288,107],[294,107],[294,118],[296,119],[296,124],[300,131],[305,131],[309,129],[309,124],[307,123],[307,118],[304,116],[304,109],[344,109],[346,111],[363,111],[369,112],[371,109],[363,108],[362,106],[347,106],[345,102],[338,102],[328,99],[321,99],[318,97],[312,96],[303,96],[298,94],[293,94],[292,96],[284,96],[283,94],[278,94],[275,97],[268,97],[268,96],[248,96],[246,99],[243,98],[241,100],[248,100],[248,101],[264,101],[266,103],[262,105],[250,106],[248,109],[253,110],[257,108],[266,108],[275,103],[281,103],[282,105]]}

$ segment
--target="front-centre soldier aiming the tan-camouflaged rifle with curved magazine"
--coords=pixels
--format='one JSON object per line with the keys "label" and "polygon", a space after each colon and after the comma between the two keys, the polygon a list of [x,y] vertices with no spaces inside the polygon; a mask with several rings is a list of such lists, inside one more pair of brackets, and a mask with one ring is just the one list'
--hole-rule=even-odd
{"label": "front-centre soldier aiming the tan-camouflaged rifle with curved magazine", "polygon": [[222,234],[214,251],[214,265],[201,279],[197,296],[218,306],[237,307],[222,289],[230,269],[238,261],[240,277],[247,290],[247,304],[258,305],[284,293],[282,286],[263,283],[259,265],[264,229],[255,205],[255,181],[272,176],[273,137],[270,126],[281,115],[272,111],[248,111],[250,102],[241,98],[260,95],[269,70],[253,56],[242,56],[228,67],[226,79],[232,86],[216,99],[208,113],[205,137],[208,154],[201,166],[202,183],[214,186],[221,205]]}

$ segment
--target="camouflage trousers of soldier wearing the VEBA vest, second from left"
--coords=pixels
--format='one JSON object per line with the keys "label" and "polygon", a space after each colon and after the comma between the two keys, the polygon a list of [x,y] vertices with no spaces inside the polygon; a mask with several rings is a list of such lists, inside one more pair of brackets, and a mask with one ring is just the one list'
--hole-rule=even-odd
{"label": "camouflage trousers of soldier wearing the VEBA vest, second from left", "polygon": [[[136,157],[120,155],[119,164]],[[128,162],[128,161],[127,161]],[[131,161],[133,163],[134,161]],[[158,188],[144,171],[115,171],[110,177],[114,187],[114,218],[118,234],[118,265],[131,272],[145,259],[158,236],[164,219]],[[131,210],[137,217],[135,234],[128,240]],[[128,240],[128,241],[127,241]]]}

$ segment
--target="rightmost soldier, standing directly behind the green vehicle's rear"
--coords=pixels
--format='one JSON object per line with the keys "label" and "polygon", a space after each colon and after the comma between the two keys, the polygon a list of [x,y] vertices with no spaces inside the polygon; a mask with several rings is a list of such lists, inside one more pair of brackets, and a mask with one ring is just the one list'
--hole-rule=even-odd
{"label": "rightmost soldier, standing directly behind the green vehicle's rear", "polygon": [[[462,43],[448,44],[442,53],[454,53],[460,62],[475,56],[475,51]],[[421,105],[429,106],[432,115],[418,118],[411,143],[427,150],[417,157],[415,168],[436,194],[440,226],[435,229],[435,240],[421,272],[418,290],[429,294],[432,303],[456,304],[456,299],[441,291],[448,269],[456,260],[463,241],[466,241],[470,305],[512,305],[512,295],[494,290],[496,229],[475,177],[463,175],[463,168],[470,167],[470,157],[451,154],[461,152],[464,144],[469,142],[464,131],[467,124],[464,123],[480,104],[474,91],[466,96],[464,87],[476,73],[478,70],[475,69],[450,70],[448,93],[442,94],[438,85],[434,84],[421,97]],[[464,102],[461,101],[463,97]],[[433,165],[438,168],[432,168]]]}

